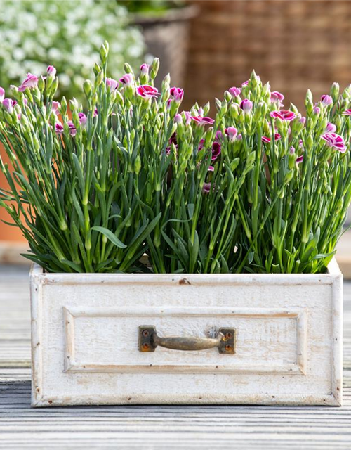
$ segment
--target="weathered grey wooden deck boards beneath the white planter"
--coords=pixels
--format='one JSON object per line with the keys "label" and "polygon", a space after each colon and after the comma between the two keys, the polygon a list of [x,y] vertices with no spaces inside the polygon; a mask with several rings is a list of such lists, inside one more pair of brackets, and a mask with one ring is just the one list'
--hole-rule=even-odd
{"label": "weathered grey wooden deck boards beneath the white planter", "polygon": [[0,266],[0,449],[351,449],[351,283],[344,405],[31,409],[27,267]]}

